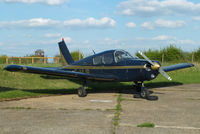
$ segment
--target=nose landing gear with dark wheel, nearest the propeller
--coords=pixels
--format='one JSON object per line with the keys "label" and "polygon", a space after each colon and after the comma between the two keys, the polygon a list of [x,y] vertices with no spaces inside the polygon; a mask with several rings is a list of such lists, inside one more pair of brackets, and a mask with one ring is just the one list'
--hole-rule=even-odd
{"label": "nose landing gear with dark wheel, nearest the propeller", "polygon": [[144,87],[144,83],[138,83],[135,82],[136,85],[136,91],[139,94],[134,95],[134,98],[143,98],[143,99],[147,99],[147,100],[158,100],[158,96],[150,96],[149,90],[147,88]]}

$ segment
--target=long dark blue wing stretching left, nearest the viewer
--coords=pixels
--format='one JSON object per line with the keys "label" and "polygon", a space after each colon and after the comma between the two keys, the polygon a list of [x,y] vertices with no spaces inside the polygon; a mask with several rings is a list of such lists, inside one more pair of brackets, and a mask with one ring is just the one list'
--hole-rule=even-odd
{"label": "long dark blue wing stretching left, nearest the viewer", "polygon": [[11,72],[46,74],[46,75],[53,75],[53,76],[64,76],[64,77],[89,79],[89,80],[101,80],[101,81],[117,80],[117,77],[113,75],[73,72],[73,71],[63,70],[62,68],[44,68],[44,67],[22,66],[22,65],[8,65],[4,69]]}

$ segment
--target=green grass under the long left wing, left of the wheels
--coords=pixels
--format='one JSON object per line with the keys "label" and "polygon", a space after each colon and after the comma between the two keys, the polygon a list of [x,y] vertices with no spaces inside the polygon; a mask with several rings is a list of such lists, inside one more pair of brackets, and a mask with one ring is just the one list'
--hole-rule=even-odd
{"label": "green grass under the long left wing, left of the wheels", "polygon": [[[67,79],[44,79],[37,74],[7,72],[3,70],[4,66],[0,65],[0,100],[70,94],[75,93],[75,89],[80,86]],[[52,66],[55,65],[48,65]]]}

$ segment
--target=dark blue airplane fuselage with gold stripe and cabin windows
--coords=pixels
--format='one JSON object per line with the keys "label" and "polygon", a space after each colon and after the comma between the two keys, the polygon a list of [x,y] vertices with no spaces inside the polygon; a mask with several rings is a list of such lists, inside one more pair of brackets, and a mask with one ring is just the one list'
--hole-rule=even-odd
{"label": "dark blue airplane fuselage with gold stripe and cabin windows", "polygon": [[[117,59],[119,54],[127,55]],[[160,65],[158,61],[153,62]],[[112,81],[145,81],[155,79],[158,75],[157,70],[148,68],[150,66],[146,60],[132,57],[123,50],[109,50],[86,57],[63,69],[93,75],[114,75],[116,79]],[[109,80],[105,79],[105,81]]]}

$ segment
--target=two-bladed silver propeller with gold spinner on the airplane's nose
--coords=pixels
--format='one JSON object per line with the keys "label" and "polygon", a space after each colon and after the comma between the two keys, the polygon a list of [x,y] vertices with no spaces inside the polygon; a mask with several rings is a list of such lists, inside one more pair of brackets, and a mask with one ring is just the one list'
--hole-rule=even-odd
{"label": "two-bladed silver propeller with gold spinner on the airplane's nose", "polygon": [[168,80],[172,80],[171,77],[162,69],[162,67],[157,62],[152,62],[146,55],[144,55],[141,51],[138,51],[138,53],[151,64],[152,70],[158,70],[158,72],[163,75]]}

